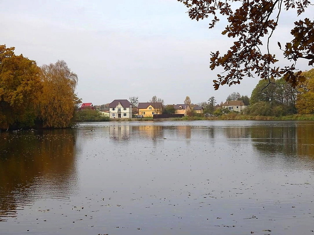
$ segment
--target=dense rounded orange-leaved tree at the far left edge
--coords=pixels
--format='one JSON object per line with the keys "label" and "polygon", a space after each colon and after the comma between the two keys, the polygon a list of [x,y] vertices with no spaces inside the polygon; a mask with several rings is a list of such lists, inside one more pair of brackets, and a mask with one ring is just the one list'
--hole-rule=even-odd
{"label": "dense rounded orange-leaved tree at the far left edge", "polygon": [[0,45],[0,129],[33,126],[41,88],[36,62]]}

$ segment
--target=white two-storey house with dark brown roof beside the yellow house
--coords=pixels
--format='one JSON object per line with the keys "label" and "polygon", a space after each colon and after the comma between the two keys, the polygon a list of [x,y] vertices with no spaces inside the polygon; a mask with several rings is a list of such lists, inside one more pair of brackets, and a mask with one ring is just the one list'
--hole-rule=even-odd
{"label": "white two-storey house with dark brown roof beside the yellow house", "polygon": [[110,118],[132,118],[132,104],[127,99],[115,99],[109,104]]}

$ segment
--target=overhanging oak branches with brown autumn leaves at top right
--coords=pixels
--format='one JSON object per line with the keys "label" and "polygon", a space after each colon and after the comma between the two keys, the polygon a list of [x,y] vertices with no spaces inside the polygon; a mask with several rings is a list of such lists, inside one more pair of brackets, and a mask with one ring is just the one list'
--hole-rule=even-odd
{"label": "overhanging oak branches with brown autumn leaves at top right", "polygon": [[[292,41],[278,47],[283,51],[289,64],[279,68],[274,64],[278,61],[269,49],[270,38],[278,27],[280,14],[285,10],[295,9],[296,16],[309,7],[309,0],[178,0],[189,9],[191,19],[207,19],[212,17],[209,28],[212,29],[219,21],[218,15],[227,18],[228,24],[223,35],[233,38],[230,49],[221,55],[219,51],[210,53],[210,68],[222,67],[224,73],[217,74],[214,88],[221,85],[239,84],[244,77],[259,77],[268,80],[282,77],[293,86],[304,81],[301,71],[295,73],[295,64],[300,58],[314,64],[314,22],[310,19],[298,19],[291,30]],[[266,40],[264,40],[266,38]],[[264,45],[263,40],[266,41]],[[265,52],[262,52],[265,51]]]}

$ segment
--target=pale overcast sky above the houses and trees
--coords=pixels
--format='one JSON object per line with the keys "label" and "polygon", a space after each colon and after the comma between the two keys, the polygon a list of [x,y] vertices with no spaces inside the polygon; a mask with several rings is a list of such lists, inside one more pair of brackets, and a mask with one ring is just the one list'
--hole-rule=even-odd
{"label": "pale overcast sky above the houses and trees", "polygon": [[[147,102],[156,95],[165,104],[182,104],[186,96],[195,104],[212,96],[220,103],[232,92],[250,97],[259,80],[244,78],[240,85],[215,91],[212,80],[222,70],[210,70],[209,54],[225,52],[231,45],[232,40],[221,35],[226,21],[208,29],[209,19],[191,20],[187,8],[176,0],[0,0],[0,4],[0,44],[14,46],[16,54],[39,66],[66,61],[78,75],[76,92],[83,102],[106,104],[130,96]],[[284,45],[291,40],[294,19],[295,11],[281,15],[272,54],[282,54],[277,41]],[[307,63],[300,61],[298,66],[311,69]],[[287,61],[278,63],[284,65]]]}

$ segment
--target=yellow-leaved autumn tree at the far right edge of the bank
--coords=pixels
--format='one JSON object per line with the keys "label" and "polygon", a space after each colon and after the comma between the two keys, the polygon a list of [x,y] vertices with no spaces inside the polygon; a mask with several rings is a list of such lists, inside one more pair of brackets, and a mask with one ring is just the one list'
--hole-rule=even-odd
{"label": "yellow-leaved autumn tree at the far right edge of the bank", "polygon": [[299,114],[312,114],[314,113],[314,69],[303,72],[303,76],[306,77],[304,83],[302,83],[298,90],[296,108]]}

